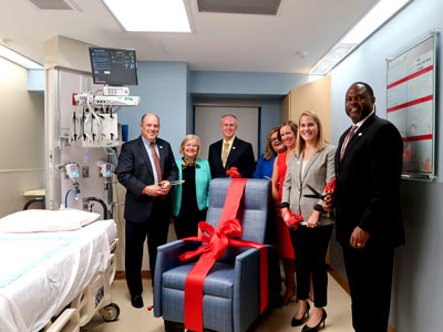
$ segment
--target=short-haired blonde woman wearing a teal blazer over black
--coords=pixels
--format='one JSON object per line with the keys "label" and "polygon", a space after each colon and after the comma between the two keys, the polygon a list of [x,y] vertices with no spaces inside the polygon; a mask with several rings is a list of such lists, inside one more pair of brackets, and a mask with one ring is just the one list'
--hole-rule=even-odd
{"label": "short-haired blonde woman wearing a teal blazer over black", "polygon": [[186,135],[179,147],[183,158],[176,160],[178,179],[185,183],[171,190],[177,239],[197,236],[198,222],[206,220],[210,168],[208,160],[197,158],[200,147],[196,135]]}

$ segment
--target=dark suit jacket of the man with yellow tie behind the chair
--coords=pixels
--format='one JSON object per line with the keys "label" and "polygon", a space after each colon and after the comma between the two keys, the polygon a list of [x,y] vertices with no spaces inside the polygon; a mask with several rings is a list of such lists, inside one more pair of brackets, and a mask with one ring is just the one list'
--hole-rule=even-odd
{"label": "dark suit jacket of the man with yellow tie behind the chair", "polygon": [[256,166],[253,145],[250,145],[250,143],[248,142],[235,137],[228,159],[226,160],[226,167],[223,167],[222,163],[222,145],[223,139],[213,143],[209,146],[208,162],[210,165],[210,174],[213,175],[213,178],[226,177],[226,170],[228,170],[230,167],[237,167],[238,173],[241,174],[243,178],[253,177],[253,173]]}

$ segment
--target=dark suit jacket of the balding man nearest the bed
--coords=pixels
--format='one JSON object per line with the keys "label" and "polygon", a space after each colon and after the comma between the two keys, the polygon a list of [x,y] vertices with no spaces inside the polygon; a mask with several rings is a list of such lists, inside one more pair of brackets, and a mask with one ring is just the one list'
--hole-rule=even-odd
{"label": "dark suit jacket of the balding man nearest the bed", "polygon": [[[176,180],[178,170],[169,143],[157,138],[156,144],[163,179]],[[123,144],[119,156],[117,178],[126,188],[124,218],[133,222],[146,222],[153,201],[158,198],[142,194],[146,186],[154,185],[151,159],[142,136]]]}

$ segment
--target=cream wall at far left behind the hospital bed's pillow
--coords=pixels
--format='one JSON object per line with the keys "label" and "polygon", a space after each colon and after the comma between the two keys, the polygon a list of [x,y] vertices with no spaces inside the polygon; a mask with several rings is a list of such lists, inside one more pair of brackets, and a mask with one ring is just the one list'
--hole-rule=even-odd
{"label": "cream wall at far left behind the hospital bed's pillow", "polygon": [[27,91],[28,73],[22,66],[0,58],[0,217],[3,217],[23,208],[28,200],[21,195],[23,190],[44,186],[44,102],[43,95]]}

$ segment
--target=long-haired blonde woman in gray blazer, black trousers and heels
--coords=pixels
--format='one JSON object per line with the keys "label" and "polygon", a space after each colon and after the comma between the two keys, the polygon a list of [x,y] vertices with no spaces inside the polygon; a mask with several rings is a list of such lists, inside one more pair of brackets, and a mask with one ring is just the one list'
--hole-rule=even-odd
{"label": "long-haired blonde woman in gray blazer, black trousers and heels", "polygon": [[[328,276],[326,253],[333,229],[333,219],[322,212],[322,200],[305,195],[313,193],[311,186],[324,195],[324,186],[334,177],[336,147],[323,139],[320,118],[305,111],[299,118],[297,144],[288,162],[282,197],[281,216],[290,227],[289,210],[302,216],[298,227],[290,229],[293,251],[297,257],[297,297],[299,307],[291,320],[292,326],[306,325],[301,331],[318,331],[324,324],[327,313]],[[313,304],[309,318],[309,283],[312,274]],[[309,318],[309,320],[308,320]]]}

